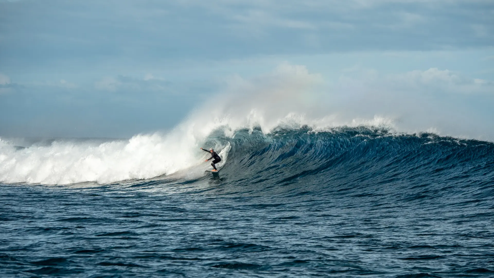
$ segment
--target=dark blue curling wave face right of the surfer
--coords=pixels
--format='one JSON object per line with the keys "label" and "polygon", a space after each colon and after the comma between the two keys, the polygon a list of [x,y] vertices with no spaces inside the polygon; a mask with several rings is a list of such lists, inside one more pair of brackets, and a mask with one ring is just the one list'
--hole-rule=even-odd
{"label": "dark blue curling wave face right of the surfer", "polygon": [[494,144],[485,141],[365,127],[280,130],[267,136],[241,131],[225,140],[231,150],[223,172],[250,177],[250,184],[310,185],[317,194],[378,187],[403,193],[448,184],[455,188],[438,194],[454,195],[465,185],[494,181]]}

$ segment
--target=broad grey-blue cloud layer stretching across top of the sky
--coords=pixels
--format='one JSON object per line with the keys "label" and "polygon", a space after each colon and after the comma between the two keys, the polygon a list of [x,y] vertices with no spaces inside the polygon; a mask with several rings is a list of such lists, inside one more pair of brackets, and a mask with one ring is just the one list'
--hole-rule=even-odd
{"label": "broad grey-blue cloud layer stretching across top of the sky", "polygon": [[5,67],[42,69],[68,59],[107,65],[119,57],[148,62],[231,59],[471,49],[494,43],[494,6],[487,0],[122,0],[118,6],[111,1],[51,0],[50,5],[0,5],[8,10],[2,14],[1,32]]}

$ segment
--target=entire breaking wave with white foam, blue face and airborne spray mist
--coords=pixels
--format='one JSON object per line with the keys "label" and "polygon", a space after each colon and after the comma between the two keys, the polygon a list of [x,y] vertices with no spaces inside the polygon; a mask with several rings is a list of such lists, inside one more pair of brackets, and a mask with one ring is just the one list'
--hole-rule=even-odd
{"label": "entire breaking wave with white foam, blue face and airborne spray mist", "polygon": [[[415,113],[423,114],[427,121],[409,120],[412,128],[407,128],[404,118],[364,113],[363,108],[369,107],[355,102],[336,110],[334,106],[339,104],[332,103],[329,96],[337,94],[323,95],[313,90],[320,83],[320,76],[308,73],[305,67],[283,65],[272,75],[251,82],[243,80],[240,87],[231,88],[235,93],[218,95],[218,101],[193,111],[167,133],[103,142],[57,139],[49,144],[23,146],[0,139],[0,182],[108,184],[177,172],[200,177],[207,166],[202,164],[206,154],[199,147],[221,150],[223,173],[259,172],[262,174],[255,177],[276,183],[326,172],[333,177],[343,173],[362,176],[377,170],[397,171],[405,179],[404,175],[418,170],[430,172],[429,167],[436,166],[433,170],[444,174],[467,163],[460,160],[474,163],[480,159],[479,151],[493,153],[492,143],[440,137],[434,125],[429,126],[428,114]],[[388,104],[385,106],[394,107]],[[330,113],[333,108],[340,112],[346,109],[350,114]],[[443,114],[441,117],[447,117]],[[453,161],[456,166],[439,167],[441,159],[449,156],[454,159],[445,161]],[[398,173],[407,167],[418,170]],[[427,175],[435,173],[429,172]]]}

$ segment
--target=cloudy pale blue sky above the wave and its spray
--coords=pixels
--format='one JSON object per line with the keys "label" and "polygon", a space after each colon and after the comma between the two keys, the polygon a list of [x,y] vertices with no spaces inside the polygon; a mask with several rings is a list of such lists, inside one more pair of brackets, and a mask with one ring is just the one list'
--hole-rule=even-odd
{"label": "cloudy pale blue sky above the wave and its spray", "polygon": [[0,0],[0,137],[166,131],[300,69],[328,114],[494,139],[492,0]]}

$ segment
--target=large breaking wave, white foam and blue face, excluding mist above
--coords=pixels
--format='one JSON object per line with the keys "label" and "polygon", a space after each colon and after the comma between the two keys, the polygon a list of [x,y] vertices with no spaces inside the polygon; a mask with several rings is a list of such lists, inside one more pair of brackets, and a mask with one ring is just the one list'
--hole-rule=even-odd
{"label": "large breaking wave, white foam and blue face, excluding mist above", "polygon": [[205,138],[189,134],[177,139],[175,131],[106,142],[55,140],[25,148],[1,140],[0,180],[108,184],[179,171],[200,177],[209,166],[202,164],[207,154],[199,146],[220,150],[223,175],[259,188],[294,183],[366,187],[397,182],[415,186],[494,180],[491,142],[431,133],[396,134],[366,126],[326,131],[279,126],[268,134],[257,127],[225,136],[229,130],[217,128]]}

